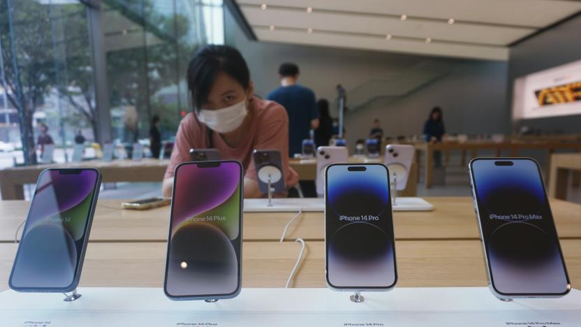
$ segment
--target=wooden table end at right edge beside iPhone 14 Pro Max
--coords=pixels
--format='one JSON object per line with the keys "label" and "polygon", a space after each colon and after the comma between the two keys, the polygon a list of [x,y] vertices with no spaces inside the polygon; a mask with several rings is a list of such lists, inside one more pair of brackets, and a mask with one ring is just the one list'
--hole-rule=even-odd
{"label": "wooden table end at right edge beside iPhone 14 Pro Max", "polygon": [[569,170],[574,170],[573,186],[579,186],[581,154],[559,153],[551,155],[549,173],[549,196],[566,200]]}

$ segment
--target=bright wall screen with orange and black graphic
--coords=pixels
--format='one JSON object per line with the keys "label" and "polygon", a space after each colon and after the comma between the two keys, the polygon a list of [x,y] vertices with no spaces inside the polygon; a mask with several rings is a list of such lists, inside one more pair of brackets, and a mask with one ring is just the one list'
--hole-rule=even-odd
{"label": "bright wall screen with orange and black graphic", "polygon": [[581,115],[581,60],[515,79],[513,119]]}

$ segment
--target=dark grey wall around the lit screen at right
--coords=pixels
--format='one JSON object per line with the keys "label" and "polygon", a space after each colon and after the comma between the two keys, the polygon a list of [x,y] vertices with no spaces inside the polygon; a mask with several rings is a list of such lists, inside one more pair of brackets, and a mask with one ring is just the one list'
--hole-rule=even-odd
{"label": "dark grey wall around the lit screen at right", "polygon": [[[509,99],[512,99],[514,78],[580,60],[580,33],[581,15],[577,15],[510,48]],[[517,124],[520,125],[545,132],[580,133],[581,115],[527,119]]]}

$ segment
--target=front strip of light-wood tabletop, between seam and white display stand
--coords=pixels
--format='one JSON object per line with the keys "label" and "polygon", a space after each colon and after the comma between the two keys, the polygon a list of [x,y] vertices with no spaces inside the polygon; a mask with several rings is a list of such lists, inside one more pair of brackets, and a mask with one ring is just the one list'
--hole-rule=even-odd
{"label": "front strip of light-wood tabletop, between seam and white display stand", "polygon": [[[581,240],[561,240],[573,287],[581,286]],[[396,242],[400,287],[486,286],[478,240]],[[8,289],[15,244],[0,244],[0,291]],[[242,286],[284,287],[300,252],[295,242],[244,242]],[[165,242],[89,243],[80,286],[161,287]],[[307,242],[294,287],[325,287],[325,244]]]}

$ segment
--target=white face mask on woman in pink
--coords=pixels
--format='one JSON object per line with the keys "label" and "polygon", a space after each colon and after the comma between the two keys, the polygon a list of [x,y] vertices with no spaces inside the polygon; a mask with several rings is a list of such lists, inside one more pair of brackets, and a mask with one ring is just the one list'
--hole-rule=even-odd
{"label": "white face mask on woman in pink", "polygon": [[197,114],[200,122],[203,122],[210,129],[218,133],[230,133],[234,131],[242,125],[246,115],[248,115],[246,98],[226,108],[216,110],[200,109],[200,112]]}

